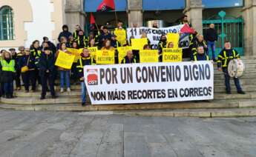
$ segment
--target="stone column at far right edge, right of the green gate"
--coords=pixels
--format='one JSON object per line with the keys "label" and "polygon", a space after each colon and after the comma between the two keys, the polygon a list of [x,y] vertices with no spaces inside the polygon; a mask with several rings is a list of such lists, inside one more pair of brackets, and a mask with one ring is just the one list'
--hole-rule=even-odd
{"label": "stone column at far right edge, right of the green gate", "polygon": [[245,0],[244,20],[244,56],[256,56],[256,0]]}

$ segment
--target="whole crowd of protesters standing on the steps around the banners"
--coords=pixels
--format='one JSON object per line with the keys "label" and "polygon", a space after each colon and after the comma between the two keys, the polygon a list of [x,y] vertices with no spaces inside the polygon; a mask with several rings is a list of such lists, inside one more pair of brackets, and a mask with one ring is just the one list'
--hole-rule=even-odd
{"label": "whole crowd of protesters standing on the steps around the banners", "polygon": [[[188,24],[188,19],[184,16],[181,24]],[[137,24],[133,24],[133,27],[137,27]],[[153,27],[157,28],[157,23],[153,24]],[[86,87],[83,76],[83,67],[86,65],[95,64],[95,61],[90,56],[88,47],[98,47],[99,50],[115,50],[115,62],[119,64],[117,47],[120,46],[119,41],[116,40],[116,36],[111,33],[108,26],[100,27],[99,31],[91,31],[88,36],[85,36],[85,32],[79,25],[76,25],[75,31],[70,33],[68,26],[62,27],[62,32],[59,33],[58,44],[53,44],[47,37],[43,38],[42,44],[40,41],[35,40],[29,48],[19,47],[19,51],[15,49],[1,50],[1,64],[0,64],[0,82],[1,90],[0,96],[5,98],[13,98],[13,81],[16,82],[16,90],[22,89],[24,84],[24,90],[28,93],[30,90],[36,92],[36,85],[41,84],[42,93],[41,99],[45,99],[47,90],[50,90],[51,98],[56,98],[56,92],[54,89],[54,80],[60,80],[60,92],[65,91],[71,92],[70,90],[70,79],[75,83],[80,83],[82,87],[82,105],[86,104]],[[116,30],[124,29],[122,22],[119,21]],[[131,36],[131,39],[134,37]],[[146,33],[142,33],[141,38],[147,38]],[[127,41],[125,45],[131,45],[130,41]],[[209,25],[209,29],[206,30],[206,37],[195,32],[189,36],[190,46],[187,50],[183,51],[183,57],[189,57],[192,61],[205,61],[210,60],[209,53],[210,49],[212,52],[211,60],[217,61],[218,70],[223,70],[226,82],[226,93],[230,92],[229,76],[226,70],[226,64],[228,64],[223,55],[230,56],[230,61],[233,59],[239,59],[239,54],[236,50],[232,49],[231,43],[226,41],[225,47],[220,52],[220,55],[215,58],[215,42],[217,41],[217,32],[214,30],[214,24]],[[67,47],[80,49],[83,48],[81,58],[77,63],[74,63],[71,70],[64,69],[62,67],[56,67],[55,61],[59,55],[59,50],[62,52],[70,53]],[[162,61],[163,48],[172,48],[174,43],[167,42],[165,35],[161,36],[158,50],[159,50],[159,61]],[[145,50],[151,49],[151,43],[148,40],[148,44],[143,47]],[[225,53],[225,54],[224,54]],[[120,64],[132,64],[140,63],[140,51],[129,50],[127,55],[122,59]],[[22,81],[21,79],[22,78]],[[240,87],[239,80],[234,79],[237,86],[237,92],[243,93]]]}

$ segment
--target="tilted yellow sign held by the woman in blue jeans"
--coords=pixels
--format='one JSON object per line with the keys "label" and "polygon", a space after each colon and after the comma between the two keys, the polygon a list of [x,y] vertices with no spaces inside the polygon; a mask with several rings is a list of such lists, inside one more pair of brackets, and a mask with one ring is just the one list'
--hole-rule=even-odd
{"label": "tilted yellow sign held by the woman in blue jeans", "polygon": [[59,50],[59,55],[57,57],[55,65],[65,69],[71,69],[75,57],[76,56],[74,55],[70,55],[68,53],[63,52],[62,50]]}

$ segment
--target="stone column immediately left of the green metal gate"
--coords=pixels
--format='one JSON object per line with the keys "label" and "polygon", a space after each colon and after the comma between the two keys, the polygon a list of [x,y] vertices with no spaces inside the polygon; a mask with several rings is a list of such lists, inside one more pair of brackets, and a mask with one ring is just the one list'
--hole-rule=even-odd
{"label": "stone column immediately left of the green metal gate", "polygon": [[203,7],[202,0],[186,0],[186,8],[183,11],[188,16],[192,27],[198,33],[203,33]]}

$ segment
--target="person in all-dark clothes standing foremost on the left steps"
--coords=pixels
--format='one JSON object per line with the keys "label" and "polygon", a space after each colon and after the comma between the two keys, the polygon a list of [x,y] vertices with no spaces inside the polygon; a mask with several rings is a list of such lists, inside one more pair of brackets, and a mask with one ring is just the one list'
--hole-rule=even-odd
{"label": "person in all-dark clothes standing foremost on the left steps", "polygon": [[44,53],[40,56],[39,59],[39,76],[41,77],[42,82],[42,93],[41,100],[45,99],[47,91],[47,81],[50,85],[50,95],[52,98],[56,98],[54,90],[54,77],[55,77],[55,66],[54,66],[54,55],[50,51],[49,47],[45,47]]}

